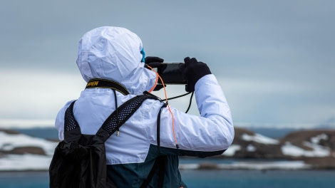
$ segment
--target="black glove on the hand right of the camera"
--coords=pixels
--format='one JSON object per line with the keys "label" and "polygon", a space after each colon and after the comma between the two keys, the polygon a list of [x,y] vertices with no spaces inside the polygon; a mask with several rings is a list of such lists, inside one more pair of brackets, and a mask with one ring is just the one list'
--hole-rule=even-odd
{"label": "black glove on the hand right of the camera", "polygon": [[182,68],[182,74],[187,82],[185,85],[185,90],[187,92],[192,92],[195,90],[195,83],[197,80],[202,78],[204,75],[211,74],[210,68],[206,65],[206,63],[202,63],[201,61],[197,61],[196,58],[185,58],[185,67]]}

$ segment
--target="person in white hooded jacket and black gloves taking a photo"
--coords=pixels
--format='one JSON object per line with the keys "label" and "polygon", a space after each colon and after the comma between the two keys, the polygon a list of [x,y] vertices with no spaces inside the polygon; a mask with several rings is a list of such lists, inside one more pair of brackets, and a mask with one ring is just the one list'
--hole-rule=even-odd
{"label": "person in white hooded jacket and black gloves taking a photo", "polygon": [[[150,61],[163,59],[147,57]],[[73,106],[81,132],[96,134],[106,118],[136,95],[152,92],[158,73],[146,68],[143,43],[126,28],[103,26],[83,35],[78,44],[76,63],[86,82],[112,80],[126,92],[110,88],[86,88]],[[187,91],[195,91],[200,115],[183,113],[160,100],[147,99],[140,108],[105,142],[108,177],[117,187],[140,187],[148,178],[155,161],[164,156],[148,187],[187,187],[178,170],[179,156],[210,157],[221,155],[232,144],[234,127],[230,107],[215,75],[205,63],[185,58],[182,70]],[[92,84],[92,83],[91,83]],[[116,100],[115,100],[116,99]],[[64,135],[64,114],[73,100],[58,112],[56,128]],[[159,116],[160,115],[160,116]],[[159,117],[159,118],[158,118]],[[157,131],[160,121],[160,131]],[[159,135],[159,137],[158,137]]]}

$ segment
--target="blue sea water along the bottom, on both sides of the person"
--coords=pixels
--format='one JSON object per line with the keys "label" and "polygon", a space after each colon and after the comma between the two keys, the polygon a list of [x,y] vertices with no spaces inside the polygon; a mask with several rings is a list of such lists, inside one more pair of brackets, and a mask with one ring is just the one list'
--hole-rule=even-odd
{"label": "blue sea water along the bottom, on both sides of the person", "polygon": [[[312,188],[334,187],[331,170],[181,170],[182,179],[192,188]],[[48,187],[48,172],[1,172],[0,187]]]}

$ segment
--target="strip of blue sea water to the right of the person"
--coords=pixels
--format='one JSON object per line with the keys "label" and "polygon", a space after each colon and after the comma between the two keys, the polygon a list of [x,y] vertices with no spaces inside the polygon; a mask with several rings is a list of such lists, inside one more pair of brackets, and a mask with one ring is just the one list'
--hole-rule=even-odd
{"label": "strip of blue sea water to the right of the person", "polygon": [[188,187],[312,188],[334,187],[335,171],[326,170],[185,170]]}

